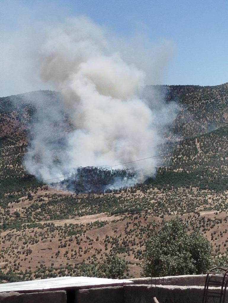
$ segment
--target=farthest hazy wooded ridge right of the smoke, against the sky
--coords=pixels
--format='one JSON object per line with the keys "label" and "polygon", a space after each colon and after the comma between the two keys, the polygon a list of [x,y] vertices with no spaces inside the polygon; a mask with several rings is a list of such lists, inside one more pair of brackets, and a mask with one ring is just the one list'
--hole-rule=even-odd
{"label": "farthest hazy wooded ridge right of the smoke, against the sky", "polygon": [[216,86],[151,85],[165,96],[167,102],[176,101],[180,106],[173,132],[192,137],[210,132],[228,122],[228,83]]}

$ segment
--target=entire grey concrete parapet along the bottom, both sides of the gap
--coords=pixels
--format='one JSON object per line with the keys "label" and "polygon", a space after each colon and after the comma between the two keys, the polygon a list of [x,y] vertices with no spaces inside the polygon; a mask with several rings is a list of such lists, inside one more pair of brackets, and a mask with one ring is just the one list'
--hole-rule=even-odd
{"label": "entire grey concrete parapet along the bottom, both sides of the gap", "polygon": [[[0,303],[154,303],[154,297],[160,303],[202,303],[205,275],[152,278],[152,285],[151,278],[133,281],[133,285],[76,290],[68,299],[65,291],[0,293]],[[228,291],[226,297],[228,303]],[[214,303],[213,298],[208,303]]]}

